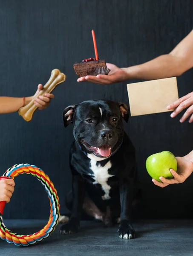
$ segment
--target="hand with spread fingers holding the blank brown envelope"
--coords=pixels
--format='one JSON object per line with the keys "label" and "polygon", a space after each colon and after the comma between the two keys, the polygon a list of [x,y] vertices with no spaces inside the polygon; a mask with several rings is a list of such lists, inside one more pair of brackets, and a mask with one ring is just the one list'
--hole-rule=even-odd
{"label": "hand with spread fingers holding the blank brown envelope", "polygon": [[184,97],[181,97],[171,105],[167,106],[167,109],[173,108],[176,108],[176,110],[171,113],[171,117],[177,116],[183,109],[188,108],[184,115],[181,117],[180,122],[184,122],[190,115],[191,116],[188,122],[193,122],[193,92],[188,93]]}

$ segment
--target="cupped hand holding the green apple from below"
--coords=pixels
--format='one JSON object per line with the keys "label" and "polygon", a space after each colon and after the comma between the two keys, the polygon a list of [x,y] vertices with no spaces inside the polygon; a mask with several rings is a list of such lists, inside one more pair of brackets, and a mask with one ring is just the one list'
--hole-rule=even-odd
{"label": "cupped hand holding the green apple from below", "polygon": [[182,183],[187,179],[187,177],[191,175],[191,173],[193,172],[193,162],[190,160],[190,158],[188,156],[176,157],[176,160],[178,163],[177,172],[175,172],[173,169],[170,169],[170,172],[173,175],[173,178],[165,179],[164,177],[160,177],[159,179],[162,182],[152,179],[153,183],[156,186],[160,186],[161,188],[164,188],[165,186],[168,186],[170,184]]}

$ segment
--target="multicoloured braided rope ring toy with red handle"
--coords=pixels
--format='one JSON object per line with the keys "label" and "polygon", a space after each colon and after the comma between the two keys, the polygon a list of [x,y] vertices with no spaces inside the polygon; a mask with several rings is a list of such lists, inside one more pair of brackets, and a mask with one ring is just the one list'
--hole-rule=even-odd
{"label": "multicoloured braided rope ring toy with red handle", "polygon": [[14,243],[15,245],[28,246],[29,244],[36,244],[37,242],[43,241],[45,238],[55,230],[56,225],[58,224],[58,218],[60,217],[60,204],[57,191],[54,187],[54,184],[49,179],[49,177],[42,171],[42,169],[37,168],[34,165],[25,164],[16,164],[13,167],[9,168],[1,179],[11,178],[20,175],[20,174],[31,174],[41,181],[42,185],[45,187],[50,201],[50,216],[49,221],[42,230],[32,235],[18,235],[14,234],[3,224],[3,209],[6,202],[0,202],[0,238],[6,240],[8,243]]}

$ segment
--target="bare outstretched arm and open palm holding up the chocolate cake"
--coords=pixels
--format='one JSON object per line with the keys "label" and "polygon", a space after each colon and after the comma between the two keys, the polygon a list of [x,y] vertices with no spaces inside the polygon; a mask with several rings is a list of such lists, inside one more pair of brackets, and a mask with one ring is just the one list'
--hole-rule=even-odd
{"label": "bare outstretched arm and open palm holding up the chocolate cake", "polygon": [[144,64],[119,68],[107,63],[109,75],[86,76],[78,79],[98,84],[113,84],[128,79],[162,79],[180,76],[193,67],[193,30],[169,53]]}

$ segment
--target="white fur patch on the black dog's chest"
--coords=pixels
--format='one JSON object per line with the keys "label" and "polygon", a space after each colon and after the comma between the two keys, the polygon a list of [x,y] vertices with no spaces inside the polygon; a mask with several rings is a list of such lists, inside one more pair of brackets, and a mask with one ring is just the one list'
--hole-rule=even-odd
{"label": "white fur patch on the black dog's chest", "polygon": [[93,178],[95,179],[94,184],[101,184],[102,189],[104,190],[104,195],[102,196],[103,200],[110,199],[109,192],[111,187],[107,184],[107,180],[109,177],[113,175],[109,175],[108,170],[111,168],[111,161],[106,163],[105,166],[101,166],[100,164],[97,166],[95,160],[90,160],[90,169],[93,172]]}

